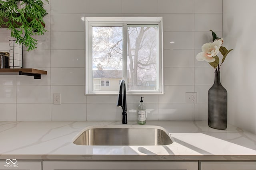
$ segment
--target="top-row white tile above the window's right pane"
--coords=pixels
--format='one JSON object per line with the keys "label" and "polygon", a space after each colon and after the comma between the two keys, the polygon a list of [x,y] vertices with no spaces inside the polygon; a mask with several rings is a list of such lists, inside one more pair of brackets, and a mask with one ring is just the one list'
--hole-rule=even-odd
{"label": "top-row white tile above the window's right pane", "polygon": [[122,0],[122,13],[158,13],[158,0]]}

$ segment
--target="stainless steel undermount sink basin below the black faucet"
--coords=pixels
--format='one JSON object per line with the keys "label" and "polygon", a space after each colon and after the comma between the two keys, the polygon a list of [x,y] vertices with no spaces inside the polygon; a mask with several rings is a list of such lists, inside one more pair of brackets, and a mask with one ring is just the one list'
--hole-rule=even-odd
{"label": "stainless steel undermount sink basin below the black faucet", "polygon": [[172,137],[162,127],[123,125],[90,127],[73,140],[76,145],[170,145]]}

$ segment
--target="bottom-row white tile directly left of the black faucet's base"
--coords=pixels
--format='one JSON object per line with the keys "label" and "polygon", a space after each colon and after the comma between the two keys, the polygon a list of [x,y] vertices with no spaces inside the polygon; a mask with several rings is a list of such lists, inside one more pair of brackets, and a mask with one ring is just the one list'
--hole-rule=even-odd
{"label": "bottom-row white tile directly left of the black faucet's base", "polygon": [[87,104],[87,121],[122,121],[122,107],[115,104]]}

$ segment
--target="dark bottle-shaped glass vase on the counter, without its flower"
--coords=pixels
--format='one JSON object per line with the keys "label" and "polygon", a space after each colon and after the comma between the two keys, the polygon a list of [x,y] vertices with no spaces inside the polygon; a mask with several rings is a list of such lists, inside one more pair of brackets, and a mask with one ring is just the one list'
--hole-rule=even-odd
{"label": "dark bottle-shaped glass vase on the counter, without its flower", "polygon": [[226,129],[228,123],[228,92],[220,83],[220,71],[215,71],[214,84],[208,90],[208,125]]}

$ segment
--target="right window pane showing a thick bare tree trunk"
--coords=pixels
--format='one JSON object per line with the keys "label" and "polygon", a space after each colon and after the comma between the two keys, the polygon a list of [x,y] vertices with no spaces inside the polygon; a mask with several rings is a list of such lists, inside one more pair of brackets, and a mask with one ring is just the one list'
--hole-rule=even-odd
{"label": "right window pane showing a thick bare tree trunk", "polygon": [[129,90],[158,90],[158,25],[128,26]]}

